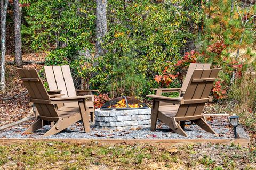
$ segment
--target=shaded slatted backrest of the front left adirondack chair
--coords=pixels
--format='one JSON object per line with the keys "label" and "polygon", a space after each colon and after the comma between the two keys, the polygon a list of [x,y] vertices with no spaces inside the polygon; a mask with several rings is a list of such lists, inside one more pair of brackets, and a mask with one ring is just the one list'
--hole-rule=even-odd
{"label": "shaded slatted backrest of the front left adirondack chair", "polygon": [[[24,82],[26,88],[32,99],[49,100],[49,95],[39,78],[36,69],[17,69],[21,80]],[[59,117],[52,104],[35,103],[39,115],[46,117]]]}

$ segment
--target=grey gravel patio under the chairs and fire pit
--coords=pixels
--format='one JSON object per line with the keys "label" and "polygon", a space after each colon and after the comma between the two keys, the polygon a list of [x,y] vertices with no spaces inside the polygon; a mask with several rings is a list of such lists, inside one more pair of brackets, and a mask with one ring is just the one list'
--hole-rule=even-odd
{"label": "grey gravel patio under the chairs and fire pit", "polygon": [[[234,138],[233,128],[228,122],[227,116],[209,117],[208,123],[215,132],[216,135],[207,133],[199,126],[185,125],[185,131],[188,137],[183,137],[177,133],[172,132],[168,127],[159,122],[157,123],[157,130],[150,131],[150,128],[143,129],[131,129],[131,130],[108,130],[108,129],[96,129],[95,125],[91,124],[89,133],[84,133],[82,122],[77,122],[69,126],[69,128],[61,133],[51,135],[49,137],[43,137],[43,134],[49,130],[50,126],[45,126],[42,129],[37,130],[31,134],[22,134],[23,131],[33,122],[33,120],[14,126],[10,129],[5,129],[0,132],[0,138],[84,138],[84,139],[227,139]],[[189,122],[188,122],[189,123]]]}

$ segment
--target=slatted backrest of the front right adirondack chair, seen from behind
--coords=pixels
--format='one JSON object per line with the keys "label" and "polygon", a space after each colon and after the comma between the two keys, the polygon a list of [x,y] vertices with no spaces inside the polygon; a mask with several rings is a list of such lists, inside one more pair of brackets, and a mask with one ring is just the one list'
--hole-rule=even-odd
{"label": "slatted backrest of the front right adirondack chair, seen from behind", "polygon": [[220,69],[196,69],[193,72],[186,93],[183,96],[185,104],[180,105],[176,117],[202,114],[204,105],[211,92],[213,82],[217,78],[219,71]]}

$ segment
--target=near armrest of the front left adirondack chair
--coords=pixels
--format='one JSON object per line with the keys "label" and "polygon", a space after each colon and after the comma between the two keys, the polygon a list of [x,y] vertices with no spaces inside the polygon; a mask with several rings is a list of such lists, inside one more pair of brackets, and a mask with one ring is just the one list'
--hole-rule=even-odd
{"label": "near armrest of the front left adirondack chair", "polygon": [[84,95],[84,96],[75,96],[75,97],[51,98],[51,99],[49,99],[49,104],[85,101],[86,98],[91,98],[91,97],[92,97],[91,95]]}

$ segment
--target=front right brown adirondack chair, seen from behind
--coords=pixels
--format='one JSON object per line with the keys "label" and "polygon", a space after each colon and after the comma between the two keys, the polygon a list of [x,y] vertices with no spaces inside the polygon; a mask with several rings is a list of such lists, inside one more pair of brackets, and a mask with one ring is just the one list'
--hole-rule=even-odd
{"label": "front right brown adirondack chair, seen from behind", "polygon": [[[205,131],[215,134],[210,125],[207,124],[202,111],[205,103],[209,101],[208,95],[219,71],[220,69],[194,70],[183,97],[147,95],[147,97],[153,98],[151,130],[156,130],[156,121],[159,118],[173,131],[186,137],[187,134],[183,130],[185,121],[194,122]],[[169,105],[161,105],[161,103],[169,103]]]}

